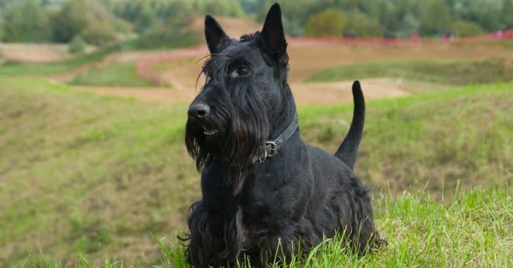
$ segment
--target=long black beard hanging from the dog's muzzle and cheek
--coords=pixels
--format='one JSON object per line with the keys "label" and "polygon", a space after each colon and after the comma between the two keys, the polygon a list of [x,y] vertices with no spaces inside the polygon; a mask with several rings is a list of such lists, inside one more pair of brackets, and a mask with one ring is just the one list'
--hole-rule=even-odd
{"label": "long black beard hanging from the dog's muzzle and cheek", "polygon": [[[269,136],[268,105],[247,81],[234,85],[231,93],[223,87],[218,91],[219,99],[209,103],[213,111],[208,119],[202,123],[187,121],[185,144],[198,170],[214,158],[226,165],[227,180],[237,193]],[[217,133],[207,136],[204,127]]]}

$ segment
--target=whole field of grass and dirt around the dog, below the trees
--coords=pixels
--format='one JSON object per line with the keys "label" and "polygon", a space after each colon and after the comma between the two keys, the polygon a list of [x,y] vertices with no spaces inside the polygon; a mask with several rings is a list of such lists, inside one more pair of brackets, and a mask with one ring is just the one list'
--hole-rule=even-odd
{"label": "whole field of grass and dirt around the dog, below the trees", "polygon": [[[510,43],[308,42],[289,49],[302,137],[336,150],[362,80],[356,172],[390,244],[358,258],[326,241],[288,266],[513,265]],[[184,266],[205,47],[122,50],[0,66],[0,266]]]}

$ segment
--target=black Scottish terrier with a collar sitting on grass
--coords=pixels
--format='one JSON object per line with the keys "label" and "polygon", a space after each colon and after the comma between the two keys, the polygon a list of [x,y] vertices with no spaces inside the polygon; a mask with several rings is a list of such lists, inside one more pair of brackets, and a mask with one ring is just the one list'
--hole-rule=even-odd
{"label": "black Scottish terrier with a collar sitting on grass", "polygon": [[240,40],[207,15],[205,37],[208,80],[189,107],[185,136],[203,193],[182,238],[188,262],[217,267],[247,257],[262,267],[279,244],[279,257],[288,258],[337,232],[360,254],[386,243],[374,227],[369,189],[352,171],[365,114],[358,81],[349,133],[332,156],[301,139],[278,4],[262,32]]}

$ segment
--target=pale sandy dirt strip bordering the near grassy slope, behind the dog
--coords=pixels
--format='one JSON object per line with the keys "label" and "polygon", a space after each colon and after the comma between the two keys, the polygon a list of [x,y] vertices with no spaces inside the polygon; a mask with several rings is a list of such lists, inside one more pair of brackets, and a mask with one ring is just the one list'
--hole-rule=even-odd
{"label": "pale sandy dirt strip bordering the near grassy slope, behind the dog", "polygon": [[[298,105],[335,105],[352,102],[351,84],[352,81],[291,83],[290,88]],[[361,84],[367,100],[399,97],[411,92],[401,81],[388,78],[365,79],[361,81]],[[182,90],[154,87],[127,89],[124,87],[73,86],[73,88],[102,95],[136,98],[159,103],[190,103],[196,96],[196,91],[193,88]]]}

